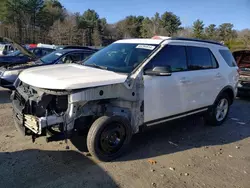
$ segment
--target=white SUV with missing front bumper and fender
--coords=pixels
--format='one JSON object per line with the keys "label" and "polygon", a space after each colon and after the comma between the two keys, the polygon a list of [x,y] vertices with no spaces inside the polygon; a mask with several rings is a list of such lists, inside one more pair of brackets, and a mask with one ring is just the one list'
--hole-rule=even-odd
{"label": "white SUV with missing front bumper and fender", "polygon": [[109,161],[140,127],[201,112],[209,124],[222,124],[236,95],[237,69],[228,48],[212,41],[119,40],[83,65],[23,71],[11,96],[15,124],[47,141],[87,129],[89,152]]}

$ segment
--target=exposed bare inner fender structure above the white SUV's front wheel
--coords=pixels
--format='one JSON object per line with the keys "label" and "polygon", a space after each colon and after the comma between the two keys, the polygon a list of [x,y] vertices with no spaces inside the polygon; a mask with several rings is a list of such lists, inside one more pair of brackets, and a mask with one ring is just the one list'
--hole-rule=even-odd
{"label": "exposed bare inner fender structure above the white SUV's front wheel", "polygon": [[[69,117],[82,116],[124,116],[130,122],[133,132],[143,124],[143,80],[138,76],[130,87],[126,83],[73,91],[69,95]],[[68,126],[72,129],[73,125]]]}

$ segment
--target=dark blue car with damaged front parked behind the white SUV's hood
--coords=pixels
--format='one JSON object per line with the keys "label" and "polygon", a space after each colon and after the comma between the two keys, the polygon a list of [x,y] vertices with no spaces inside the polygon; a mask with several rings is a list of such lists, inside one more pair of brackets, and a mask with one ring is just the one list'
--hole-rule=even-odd
{"label": "dark blue car with damaged front parked behind the white SUV's hood", "polygon": [[[35,48],[33,53],[37,50],[44,48]],[[53,49],[50,49],[53,50]],[[24,69],[31,68],[34,66],[52,65],[52,64],[63,64],[63,63],[81,63],[83,59],[92,55],[94,50],[79,50],[79,49],[67,49],[57,50],[49,53],[37,61],[25,62],[25,63],[12,63],[0,68],[0,86],[8,89],[14,89],[13,83],[17,79],[19,73]]]}

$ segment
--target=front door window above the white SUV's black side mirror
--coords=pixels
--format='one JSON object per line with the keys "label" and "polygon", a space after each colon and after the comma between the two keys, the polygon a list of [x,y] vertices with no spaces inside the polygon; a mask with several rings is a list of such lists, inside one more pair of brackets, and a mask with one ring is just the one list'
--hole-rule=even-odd
{"label": "front door window above the white SUV's black side mirror", "polygon": [[172,72],[187,70],[184,46],[167,45],[146,65],[145,69],[169,67]]}

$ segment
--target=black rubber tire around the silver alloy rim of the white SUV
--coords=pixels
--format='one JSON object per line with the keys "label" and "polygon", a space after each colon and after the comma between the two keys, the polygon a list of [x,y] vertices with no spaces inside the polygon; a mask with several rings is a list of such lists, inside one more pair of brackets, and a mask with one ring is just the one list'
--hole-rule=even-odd
{"label": "black rubber tire around the silver alloy rim of the white SUV", "polygon": [[[227,111],[225,116],[223,116],[223,119],[218,120],[216,118],[216,113],[217,113],[217,106],[218,104],[222,101],[222,100],[226,100],[228,103],[228,107],[227,107]],[[205,122],[208,125],[212,125],[212,126],[220,126],[223,124],[223,122],[227,119],[228,116],[228,112],[230,109],[230,98],[228,97],[228,95],[226,93],[222,93],[214,102],[213,106],[208,110],[207,114],[205,115]]]}

